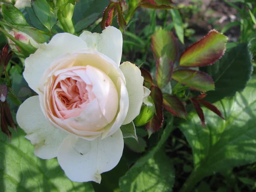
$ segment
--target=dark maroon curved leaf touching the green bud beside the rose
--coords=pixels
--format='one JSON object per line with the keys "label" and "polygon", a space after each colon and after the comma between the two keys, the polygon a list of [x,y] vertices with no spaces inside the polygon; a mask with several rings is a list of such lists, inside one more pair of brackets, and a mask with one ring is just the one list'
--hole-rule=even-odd
{"label": "dark maroon curved leaf touching the green bud beside the rose", "polygon": [[152,97],[156,109],[156,115],[145,125],[148,135],[158,131],[163,124],[163,95],[162,91],[156,87],[151,87],[150,96]]}

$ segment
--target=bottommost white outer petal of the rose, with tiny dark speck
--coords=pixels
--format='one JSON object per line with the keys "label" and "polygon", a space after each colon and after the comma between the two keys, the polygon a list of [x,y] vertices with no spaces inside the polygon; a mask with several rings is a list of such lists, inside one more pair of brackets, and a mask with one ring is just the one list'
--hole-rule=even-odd
{"label": "bottommost white outer petal of the rose, with tiny dark speck", "polygon": [[96,181],[101,173],[113,169],[122,157],[124,141],[119,129],[104,140],[83,140],[69,135],[58,151],[58,162],[70,180],[76,182]]}

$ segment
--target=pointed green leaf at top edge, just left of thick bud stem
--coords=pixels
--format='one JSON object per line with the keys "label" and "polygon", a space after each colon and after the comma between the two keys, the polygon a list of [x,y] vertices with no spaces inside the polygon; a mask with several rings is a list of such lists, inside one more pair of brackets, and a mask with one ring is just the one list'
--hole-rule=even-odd
{"label": "pointed green leaf at top edge, just left of thick bud stem", "polygon": [[51,32],[52,27],[57,23],[51,7],[46,0],[32,0],[31,6],[38,20]]}

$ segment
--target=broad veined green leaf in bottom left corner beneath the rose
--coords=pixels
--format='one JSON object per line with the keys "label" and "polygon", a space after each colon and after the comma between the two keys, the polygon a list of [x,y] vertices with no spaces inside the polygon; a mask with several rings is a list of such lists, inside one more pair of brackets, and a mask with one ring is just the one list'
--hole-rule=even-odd
{"label": "broad veined green leaf in bottom left corner beneath the rose", "polygon": [[17,128],[12,143],[0,134],[0,186],[5,192],[94,192],[90,182],[76,183],[64,174],[56,158],[42,160],[35,156],[34,147]]}

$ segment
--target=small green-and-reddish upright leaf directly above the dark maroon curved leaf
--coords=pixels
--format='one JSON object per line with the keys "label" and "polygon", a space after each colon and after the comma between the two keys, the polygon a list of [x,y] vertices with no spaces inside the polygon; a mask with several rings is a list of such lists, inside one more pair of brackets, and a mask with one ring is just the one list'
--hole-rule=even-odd
{"label": "small green-and-reddish upright leaf directly above the dark maroon curved leaf", "polygon": [[174,63],[166,55],[158,59],[156,78],[160,89],[171,81],[173,66]]}

